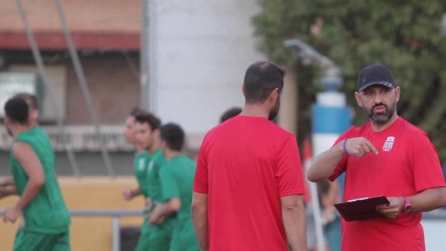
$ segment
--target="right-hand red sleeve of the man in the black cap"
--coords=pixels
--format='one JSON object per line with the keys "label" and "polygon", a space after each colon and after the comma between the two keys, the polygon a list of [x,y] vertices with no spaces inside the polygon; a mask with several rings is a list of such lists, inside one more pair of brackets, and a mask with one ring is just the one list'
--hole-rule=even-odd
{"label": "right-hand red sleeve of the man in the black cap", "polygon": [[424,133],[413,138],[412,168],[417,193],[436,187],[445,187],[435,146]]}

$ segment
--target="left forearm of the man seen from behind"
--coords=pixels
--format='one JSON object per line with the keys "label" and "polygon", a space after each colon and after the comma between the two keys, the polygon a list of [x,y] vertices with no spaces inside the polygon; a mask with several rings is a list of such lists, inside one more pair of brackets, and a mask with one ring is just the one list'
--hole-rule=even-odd
{"label": "left forearm of the man seen from behind", "polygon": [[192,206],[192,221],[197,235],[200,250],[209,250],[209,227],[207,219],[207,208]]}

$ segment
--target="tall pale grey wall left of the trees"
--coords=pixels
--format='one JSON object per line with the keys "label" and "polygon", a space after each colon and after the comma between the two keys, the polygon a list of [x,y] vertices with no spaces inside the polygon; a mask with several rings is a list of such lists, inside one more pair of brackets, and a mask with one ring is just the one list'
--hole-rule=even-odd
{"label": "tall pale grey wall left of the trees", "polygon": [[225,110],[243,105],[245,70],[265,59],[251,25],[260,9],[255,0],[152,2],[152,110],[180,123],[191,135],[189,146],[198,148]]}

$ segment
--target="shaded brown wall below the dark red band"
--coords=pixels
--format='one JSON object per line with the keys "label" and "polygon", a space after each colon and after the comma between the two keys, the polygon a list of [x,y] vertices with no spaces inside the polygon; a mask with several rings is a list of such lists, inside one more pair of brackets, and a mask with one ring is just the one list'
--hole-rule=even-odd
{"label": "shaded brown wall below the dark red band", "polygon": [[[137,57],[127,61],[121,53],[82,56],[94,109],[101,124],[123,124],[131,109],[140,105]],[[67,124],[92,124],[75,70],[68,61]]]}

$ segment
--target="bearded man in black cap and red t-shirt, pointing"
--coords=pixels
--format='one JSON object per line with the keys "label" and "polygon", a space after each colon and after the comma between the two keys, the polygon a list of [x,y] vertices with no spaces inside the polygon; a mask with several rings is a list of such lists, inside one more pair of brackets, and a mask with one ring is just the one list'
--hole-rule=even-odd
{"label": "bearded man in black cap and red t-shirt, pointing", "polygon": [[400,88],[381,64],[363,68],[355,98],[369,122],[352,126],[308,171],[312,182],[346,172],[344,201],[384,195],[382,218],[342,224],[342,250],[425,250],[421,212],[446,205],[435,147],[421,129],[398,117]]}

